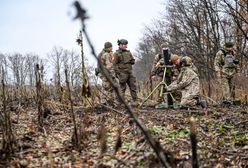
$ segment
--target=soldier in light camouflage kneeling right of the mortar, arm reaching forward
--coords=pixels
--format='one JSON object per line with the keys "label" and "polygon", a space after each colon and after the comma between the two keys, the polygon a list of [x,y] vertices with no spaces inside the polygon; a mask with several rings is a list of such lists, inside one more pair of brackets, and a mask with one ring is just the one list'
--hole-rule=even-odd
{"label": "soldier in light camouflage kneeling right of the mortar, arm reaching forward", "polygon": [[178,78],[166,90],[168,92],[180,90],[182,93],[180,105],[182,107],[193,106],[197,104],[196,97],[200,93],[199,76],[192,68],[192,59],[190,57],[185,56],[180,62],[181,70]]}

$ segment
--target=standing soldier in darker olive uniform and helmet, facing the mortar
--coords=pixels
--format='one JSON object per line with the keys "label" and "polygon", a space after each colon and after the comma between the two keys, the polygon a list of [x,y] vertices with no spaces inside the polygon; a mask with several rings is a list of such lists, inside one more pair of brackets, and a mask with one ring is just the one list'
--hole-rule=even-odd
{"label": "standing soldier in darker olive uniform and helmet, facing the mortar", "polygon": [[133,99],[133,105],[138,105],[136,78],[132,72],[132,66],[135,64],[135,59],[131,52],[127,50],[128,41],[126,39],[118,40],[117,44],[119,49],[114,53],[113,60],[115,74],[119,79],[123,96],[125,96],[126,85],[128,85]]}

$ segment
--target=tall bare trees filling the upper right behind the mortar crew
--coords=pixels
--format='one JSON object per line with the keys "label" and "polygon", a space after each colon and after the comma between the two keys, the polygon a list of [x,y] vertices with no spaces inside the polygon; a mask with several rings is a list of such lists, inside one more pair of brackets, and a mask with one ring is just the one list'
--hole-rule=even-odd
{"label": "tall bare trees filling the upper right behind the mortar crew", "polygon": [[201,78],[210,81],[216,52],[225,42],[233,41],[242,72],[248,75],[247,1],[174,0],[164,1],[163,6],[161,17],[145,26],[136,49],[138,80],[149,79],[153,58],[163,43],[171,53],[192,57]]}

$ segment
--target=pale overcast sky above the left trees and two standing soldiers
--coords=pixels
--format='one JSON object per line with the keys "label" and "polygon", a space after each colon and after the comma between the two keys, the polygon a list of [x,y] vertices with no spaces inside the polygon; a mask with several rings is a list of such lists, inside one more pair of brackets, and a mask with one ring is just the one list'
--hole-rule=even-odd
{"label": "pale overcast sky above the left trees and two standing soldiers", "polygon": [[[117,39],[129,41],[134,52],[142,37],[144,25],[159,17],[165,0],[81,0],[90,19],[86,21],[89,36],[99,53],[104,42]],[[46,57],[54,46],[80,52],[75,42],[81,29],[79,20],[73,21],[73,0],[1,0],[0,53],[36,53]],[[85,55],[91,64],[95,60],[85,43]]]}

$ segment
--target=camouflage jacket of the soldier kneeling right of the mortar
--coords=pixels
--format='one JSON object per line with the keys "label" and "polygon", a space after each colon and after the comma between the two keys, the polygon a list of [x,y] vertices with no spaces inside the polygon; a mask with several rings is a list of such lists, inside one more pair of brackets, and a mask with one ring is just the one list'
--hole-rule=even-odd
{"label": "camouflage jacket of the soldier kneeling right of the mortar", "polygon": [[167,91],[175,90],[181,90],[182,98],[199,95],[199,76],[191,66],[182,67],[177,80],[167,87]]}

